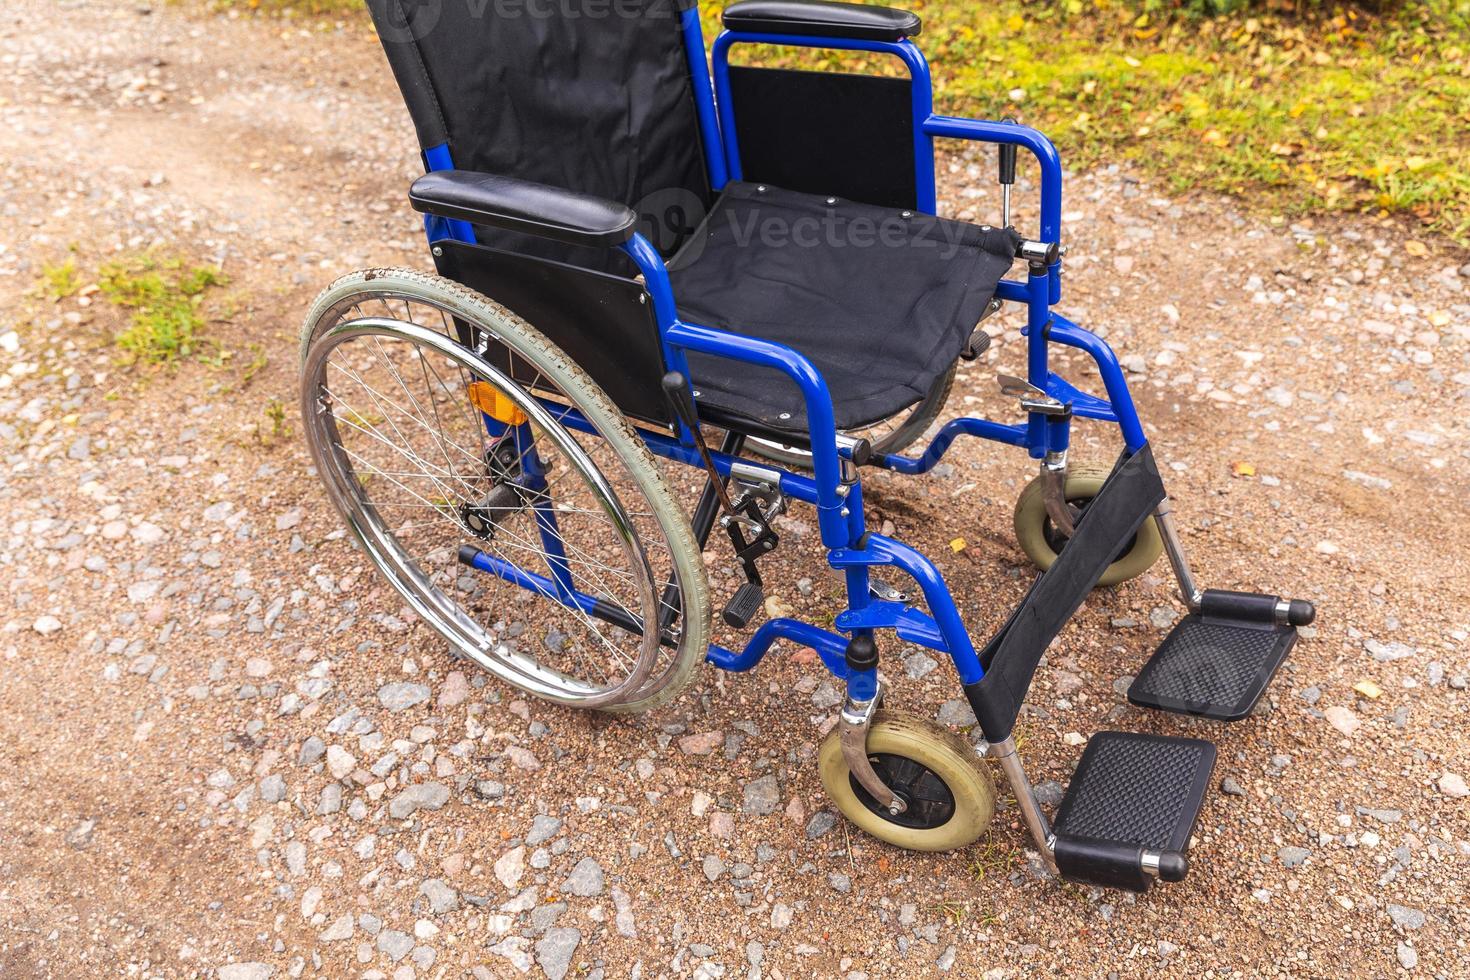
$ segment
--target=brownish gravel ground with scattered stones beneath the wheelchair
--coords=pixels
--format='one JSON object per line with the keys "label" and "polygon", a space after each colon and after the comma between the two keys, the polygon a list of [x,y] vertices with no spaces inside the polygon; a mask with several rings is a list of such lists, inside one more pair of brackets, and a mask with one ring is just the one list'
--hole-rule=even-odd
{"label": "brownish gravel ground with scattered stones beneath the wheelchair", "polygon": [[[1123,701],[1177,616],[1163,566],[1051,651],[1023,718],[1045,796],[1079,733],[1220,745],[1189,880],[1139,898],[1045,879],[1014,805],[951,855],[835,821],[836,692],[800,652],[629,720],[450,660],[265,416],[322,285],[426,266],[372,38],[110,0],[18,0],[0,34],[0,976],[1470,976],[1464,253],[1070,176],[1064,310],[1126,354],[1197,572],[1322,610],[1230,727]],[[948,210],[988,217],[989,165],[945,162]],[[68,247],[84,284],[119,251],[219,262],[234,357],[121,366],[122,313],[35,289]],[[1008,411],[1016,325],[957,406]],[[869,482],[978,636],[1029,577],[1028,478],[961,444]],[[810,514],[786,532],[778,599],[831,613]],[[953,671],[886,655],[900,705],[966,727]]]}

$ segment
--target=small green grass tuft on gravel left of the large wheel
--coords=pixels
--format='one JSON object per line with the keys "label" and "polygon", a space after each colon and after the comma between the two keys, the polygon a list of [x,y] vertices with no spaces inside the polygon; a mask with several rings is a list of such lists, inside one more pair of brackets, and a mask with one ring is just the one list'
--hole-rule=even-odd
{"label": "small green grass tuft on gravel left of the large wheel", "polygon": [[113,304],[132,310],[116,336],[125,359],[168,364],[198,351],[204,294],[223,284],[213,266],[140,256],[103,266],[97,285]]}

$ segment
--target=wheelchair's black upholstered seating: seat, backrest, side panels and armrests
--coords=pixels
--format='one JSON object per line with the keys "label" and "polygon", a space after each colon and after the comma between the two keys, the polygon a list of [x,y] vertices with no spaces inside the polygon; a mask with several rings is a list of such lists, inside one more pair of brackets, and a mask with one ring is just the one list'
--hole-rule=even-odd
{"label": "wheelchair's black upholstered seating: seat, backrest, side panels and armrests", "polygon": [[[597,21],[503,16],[494,4],[368,6],[426,159],[454,167],[412,194],[438,216],[429,235],[440,273],[526,317],[632,417],[672,419],[653,307],[616,248],[634,215],[670,263],[679,316],[806,354],[844,429],[923,398],[1011,264],[1010,232],[904,210],[917,195],[907,81],[732,69],[744,173],[767,190],[716,190],[685,4],[628,0],[626,16]],[[919,29],[911,15],[848,4],[763,1],[731,13],[757,18],[748,29],[826,32],[839,22],[888,40]],[[792,156],[800,165],[788,166]],[[473,241],[444,217],[469,222]],[[507,367],[534,383],[535,372]],[[806,430],[784,375],[703,356],[689,369],[710,422]]]}

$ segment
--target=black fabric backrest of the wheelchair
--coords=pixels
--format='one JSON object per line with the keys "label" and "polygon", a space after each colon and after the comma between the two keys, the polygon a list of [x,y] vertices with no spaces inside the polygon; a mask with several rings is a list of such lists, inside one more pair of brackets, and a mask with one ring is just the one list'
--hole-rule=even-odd
{"label": "black fabric backrest of the wheelchair", "polygon": [[[673,254],[710,203],[678,0],[368,0],[419,144],[628,204]],[[484,244],[626,272],[620,256]],[[612,260],[613,264],[609,264]]]}

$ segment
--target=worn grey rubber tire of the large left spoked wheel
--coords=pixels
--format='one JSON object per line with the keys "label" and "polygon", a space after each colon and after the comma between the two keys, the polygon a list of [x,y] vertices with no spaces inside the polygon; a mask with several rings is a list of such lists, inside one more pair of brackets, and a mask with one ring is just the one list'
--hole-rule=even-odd
{"label": "worn grey rubber tire of the large left spoked wheel", "polygon": [[[679,696],[692,679],[695,669],[704,663],[704,654],[710,645],[711,608],[704,554],[694,538],[694,529],[689,527],[688,514],[675,501],[663,478],[659,461],[628,425],[622,410],[562,348],[523,319],[469,287],[412,269],[365,269],[345,275],[326,287],[312,303],[301,326],[300,363],[303,367],[307,351],[310,351],[322,326],[322,317],[356,294],[388,294],[426,303],[444,303],[463,314],[466,320],[498,322],[504,332],[514,332],[516,344],[520,347],[519,353],[538,370],[554,379],[563,391],[570,392],[573,386],[582,389],[584,410],[591,408],[588,417],[609,441],[616,444],[614,448],[628,467],[629,476],[642,489],[644,501],[650,510],[657,511],[659,526],[667,535],[670,555],[681,567],[679,577],[686,589],[685,611],[692,611],[692,616],[684,617],[684,642],[669,667],[650,677],[628,701],[589,710],[606,714],[635,714],[657,708]],[[398,588],[397,583],[392,585],[395,589]],[[513,679],[503,674],[500,679],[514,686]]]}

